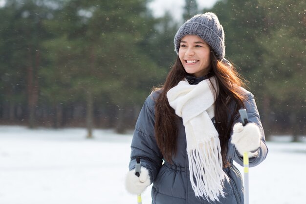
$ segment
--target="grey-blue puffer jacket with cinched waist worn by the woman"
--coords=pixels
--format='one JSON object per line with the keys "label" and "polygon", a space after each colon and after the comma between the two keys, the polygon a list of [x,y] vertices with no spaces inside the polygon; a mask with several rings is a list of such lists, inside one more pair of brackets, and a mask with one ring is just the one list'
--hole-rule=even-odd
{"label": "grey-blue puffer jacket with cinched waist worn by the woman", "polygon": [[[249,159],[249,166],[260,164],[268,153],[265,145],[262,123],[252,93],[245,90],[248,99],[245,102],[249,122],[256,123],[262,133],[261,146],[257,150],[258,156]],[[203,198],[195,196],[189,178],[188,157],[186,152],[186,135],[182,118],[177,121],[178,140],[177,152],[173,163],[167,160],[163,163],[163,156],[156,144],[154,137],[154,98],[158,92],[153,92],[145,101],[139,114],[131,142],[130,170],[135,168],[136,157],[140,157],[141,165],[149,170],[152,187],[152,204],[211,204]],[[241,122],[239,115],[235,123]],[[228,142],[227,160],[230,167],[223,168],[230,181],[224,181],[225,198],[220,197],[220,202],[215,204],[243,204],[243,184],[239,170],[233,165],[233,160],[243,166],[243,158],[238,154],[234,145]]]}

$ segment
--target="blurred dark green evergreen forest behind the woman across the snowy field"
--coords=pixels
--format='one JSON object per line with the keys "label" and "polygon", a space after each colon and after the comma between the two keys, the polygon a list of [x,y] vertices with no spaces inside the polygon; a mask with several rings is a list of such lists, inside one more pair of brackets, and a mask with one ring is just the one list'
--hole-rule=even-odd
{"label": "blurred dark green evergreen forest behind the woman across the snowy field", "polygon": [[[183,22],[151,0],[4,0],[0,124],[133,129],[145,98],[176,60]],[[183,21],[214,12],[226,59],[248,81],[266,136],[306,135],[306,1],[186,0]],[[296,137],[295,137],[296,138]]]}

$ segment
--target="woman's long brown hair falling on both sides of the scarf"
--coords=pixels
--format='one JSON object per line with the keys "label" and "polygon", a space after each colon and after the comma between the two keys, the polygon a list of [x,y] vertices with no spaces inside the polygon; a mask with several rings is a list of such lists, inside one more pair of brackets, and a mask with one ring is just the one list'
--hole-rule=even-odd
{"label": "woman's long brown hair falling on both sides of the scarf", "polygon": [[[234,116],[241,107],[244,107],[243,100],[245,95],[240,87],[244,86],[244,79],[228,62],[217,60],[216,54],[211,51],[211,72],[215,75],[218,84],[218,94],[215,102],[215,120],[217,131],[219,133],[221,155],[223,164],[226,161],[226,152],[228,139],[234,122]],[[167,92],[175,87],[179,81],[186,76],[186,71],[177,57],[175,64],[171,68],[164,85],[161,87],[161,93],[155,103],[155,126],[154,132],[158,147],[163,157],[172,162],[172,156],[176,153],[177,141],[177,119],[175,110],[169,105]],[[213,90],[217,93],[217,90]],[[235,107],[229,107],[230,102],[234,101]],[[234,110],[233,110],[234,108]],[[228,116],[231,117],[228,117]]]}

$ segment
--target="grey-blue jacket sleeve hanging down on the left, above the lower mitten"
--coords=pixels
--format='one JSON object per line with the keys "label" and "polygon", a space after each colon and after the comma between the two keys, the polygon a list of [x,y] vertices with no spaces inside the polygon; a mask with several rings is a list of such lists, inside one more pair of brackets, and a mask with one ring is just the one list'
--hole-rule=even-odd
{"label": "grey-blue jacket sleeve hanging down on the left, above the lower mitten", "polygon": [[131,161],[129,169],[135,168],[136,157],[140,158],[141,166],[149,170],[151,183],[162,165],[163,157],[154,136],[154,100],[151,94],[145,101],[135,126],[131,142]]}

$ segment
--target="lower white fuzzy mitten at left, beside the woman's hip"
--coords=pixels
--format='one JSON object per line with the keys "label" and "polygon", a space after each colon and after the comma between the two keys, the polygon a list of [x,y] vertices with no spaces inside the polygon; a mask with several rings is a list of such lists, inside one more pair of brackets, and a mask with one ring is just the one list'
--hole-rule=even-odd
{"label": "lower white fuzzy mitten at left, beside the woman's hip", "polygon": [[125,184],[131,194],[141,194],[151,184],[148,169],[142,166],[139,177],[135,175],[135,169],[132,169],[127,174]]}

